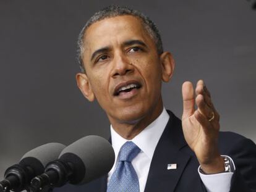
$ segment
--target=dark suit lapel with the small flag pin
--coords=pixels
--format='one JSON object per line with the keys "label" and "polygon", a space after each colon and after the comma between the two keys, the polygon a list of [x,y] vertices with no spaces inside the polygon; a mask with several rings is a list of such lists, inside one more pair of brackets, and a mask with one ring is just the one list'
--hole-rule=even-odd
{"label": "dark suit lapel with the small flag pin", "polygon": [[[181,120],[168,111],[170,119],[158,141],[148,173],[145,192],[174,191],[187,162],[188,154],[180,151],[187,146],[182,132]],[[168,164],[177,164],[177,169],[167,169]]]}

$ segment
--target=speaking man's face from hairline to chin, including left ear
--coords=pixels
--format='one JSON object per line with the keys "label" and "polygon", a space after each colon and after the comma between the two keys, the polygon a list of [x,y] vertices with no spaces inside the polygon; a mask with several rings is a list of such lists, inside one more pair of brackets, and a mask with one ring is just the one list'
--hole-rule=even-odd
{"label": "speaking man's face from hairline to chin, including left ear", "polygon": [[86,74],[80,73],[77,82],[89,101],[97,99],[111,123],[133,123],[161,108],[164,67],[137,17],[93,23],[84,41]]}

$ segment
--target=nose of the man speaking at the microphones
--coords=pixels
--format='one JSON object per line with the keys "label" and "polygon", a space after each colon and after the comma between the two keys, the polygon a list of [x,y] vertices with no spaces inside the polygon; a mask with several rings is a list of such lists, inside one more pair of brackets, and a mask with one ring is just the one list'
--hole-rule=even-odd
{"label": "nose of the man speaking at the microphones", "polygon": [[126,56],[119,54],[113,60],[113,73],[112,77],[116,78],[119,75],[126,75],[127,73],[134,72],[134,66]]}

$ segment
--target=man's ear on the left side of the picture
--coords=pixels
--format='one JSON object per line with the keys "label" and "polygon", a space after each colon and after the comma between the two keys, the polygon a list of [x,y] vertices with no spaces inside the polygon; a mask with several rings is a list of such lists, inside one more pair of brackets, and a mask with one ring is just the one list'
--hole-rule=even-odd
{"label": "man's ear on the left side of the picture", "polygon": [[92,86],[88,81],[88,77],[85,73],[77,73],[75,75],[77,80],[77,86],[79,87],[80,91],[83,93],[83,96],[88,99],[88,101],[92,102],[95,99],[95,95],[92,90]]}

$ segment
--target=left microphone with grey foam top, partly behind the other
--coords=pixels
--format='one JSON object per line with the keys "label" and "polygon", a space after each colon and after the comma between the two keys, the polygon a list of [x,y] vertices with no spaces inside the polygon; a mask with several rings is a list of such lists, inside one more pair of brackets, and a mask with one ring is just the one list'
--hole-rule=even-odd
{"label": "left microphone with grey foam top, partly behind the other", "polygon": [[6,170],[4,180],[0,182],[0,192],[28,190],[32,178],[45,172],[46,164],[58,158],[65,147],[60,143],[48,143],[28,151],[19,164]]}

